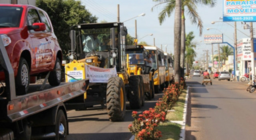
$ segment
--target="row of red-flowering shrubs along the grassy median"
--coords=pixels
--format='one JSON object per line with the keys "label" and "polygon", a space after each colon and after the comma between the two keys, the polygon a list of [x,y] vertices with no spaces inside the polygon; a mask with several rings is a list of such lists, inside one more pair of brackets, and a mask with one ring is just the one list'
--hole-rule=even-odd
{"label": "row of red-flowering shrubs along the grassy median", "polygon": [[135,135],[135,140],[159,140],[162,137],[161,131],[156,127],[165,121],[167,111],[178,101],[184,88],[185,80],[182,79],[180,84],[174,83],[165,89],[163,97],[157,100],[154,108],[149,108],[142,114],[138,114],[137,111],[132,112],[134,121],[128,128]]}

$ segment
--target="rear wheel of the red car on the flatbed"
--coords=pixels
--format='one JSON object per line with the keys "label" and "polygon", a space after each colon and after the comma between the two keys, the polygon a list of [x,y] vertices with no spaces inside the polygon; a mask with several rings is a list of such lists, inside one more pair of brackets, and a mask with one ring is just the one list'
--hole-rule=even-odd
{"label": "rear wheel of the red car on the flatbed", "polygon": [[61,84],[61,61],[56,58],[54,70],[50,73],[48,82],[52,86]]}

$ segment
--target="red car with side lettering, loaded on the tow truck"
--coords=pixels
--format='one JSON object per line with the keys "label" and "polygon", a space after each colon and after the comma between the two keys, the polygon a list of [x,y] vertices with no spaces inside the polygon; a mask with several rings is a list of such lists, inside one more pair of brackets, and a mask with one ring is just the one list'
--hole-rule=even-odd
{"label": "red car with side lettering, loaded on the tow truck", "polygon": [[[0,37],[14,70],[16,89],[28,90],[30,76],[50,72],[61,82],[62,51],[48,14],[32,5],[0,4]],[[4,80],[0,72],[0,80]]]}

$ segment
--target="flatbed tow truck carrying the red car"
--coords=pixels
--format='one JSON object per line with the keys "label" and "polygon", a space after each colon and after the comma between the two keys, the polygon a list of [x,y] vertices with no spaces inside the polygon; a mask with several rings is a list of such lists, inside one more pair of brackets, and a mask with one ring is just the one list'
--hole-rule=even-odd
{"label": "flatbed tow truck carrying the red car", "polygon": [[0,39],[0,140],[65,140],[68,135],[66,101],[84,97],[88,79],[65,83],[51,89],[18,94],[14,71]]}

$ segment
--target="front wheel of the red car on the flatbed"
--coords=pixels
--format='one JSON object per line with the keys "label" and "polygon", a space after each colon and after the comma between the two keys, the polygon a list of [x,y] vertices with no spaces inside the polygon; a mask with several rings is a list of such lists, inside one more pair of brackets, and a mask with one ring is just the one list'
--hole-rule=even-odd
{"label": "front wheel of the red car on the flatbed", "polygon": [[19,87],[24,87],[25,86],[25,93],[28,92],[28,85],[30,82],[30,75],[29,75],[29,67],[28,67],[28,62],[21,57],[19,60],[19,68],[18,68],[18,73],[16,76],[16,86],[18,89]]}

